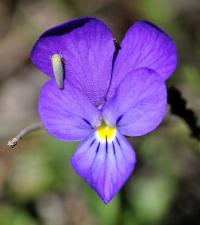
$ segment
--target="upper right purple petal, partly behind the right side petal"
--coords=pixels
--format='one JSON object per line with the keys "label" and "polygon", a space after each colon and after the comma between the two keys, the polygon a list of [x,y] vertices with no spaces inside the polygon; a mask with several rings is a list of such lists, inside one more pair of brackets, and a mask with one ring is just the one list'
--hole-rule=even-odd
{"label": "upper right purple petal, partly behind the right side petal", "polygon": [[112,93],[133,69],[148,67],[164,80],[176,69],[177,50],[173,40],[150,22],[136,22],[125,34],[120,47],[113,70]]}

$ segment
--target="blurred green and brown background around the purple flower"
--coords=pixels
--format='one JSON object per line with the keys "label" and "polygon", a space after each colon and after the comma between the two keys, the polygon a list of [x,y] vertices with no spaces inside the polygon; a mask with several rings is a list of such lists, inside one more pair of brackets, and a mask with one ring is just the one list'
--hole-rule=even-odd
{"label": "blurred green and brown background around the purple flower", "polygon": [[200,145],[170,111],[158,130],[129,139],[137,167],[107,206],[69,165],[77,143],[39,131],[6,147],[39,120],[37,97],[47,77],[30,62],[34,42],[49,27],[83,15],[102,19],[119,40],[139,19],[165,29],[179,52],[168,86],[200,118],[199,0],[1,0],[0,225],[199,225]]}

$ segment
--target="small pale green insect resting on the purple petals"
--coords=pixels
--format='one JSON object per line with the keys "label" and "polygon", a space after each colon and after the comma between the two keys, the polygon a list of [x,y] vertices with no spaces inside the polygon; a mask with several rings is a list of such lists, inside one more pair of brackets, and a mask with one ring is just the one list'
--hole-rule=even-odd
{"label": "small pale green insect resting on the purple petals", "polygon": [[53,67],[53,73],[56,79],[58,88],[62,89],[64,86],[64,70],[62,56],[60,54],[54,54],[51,56],[51,63]]}

